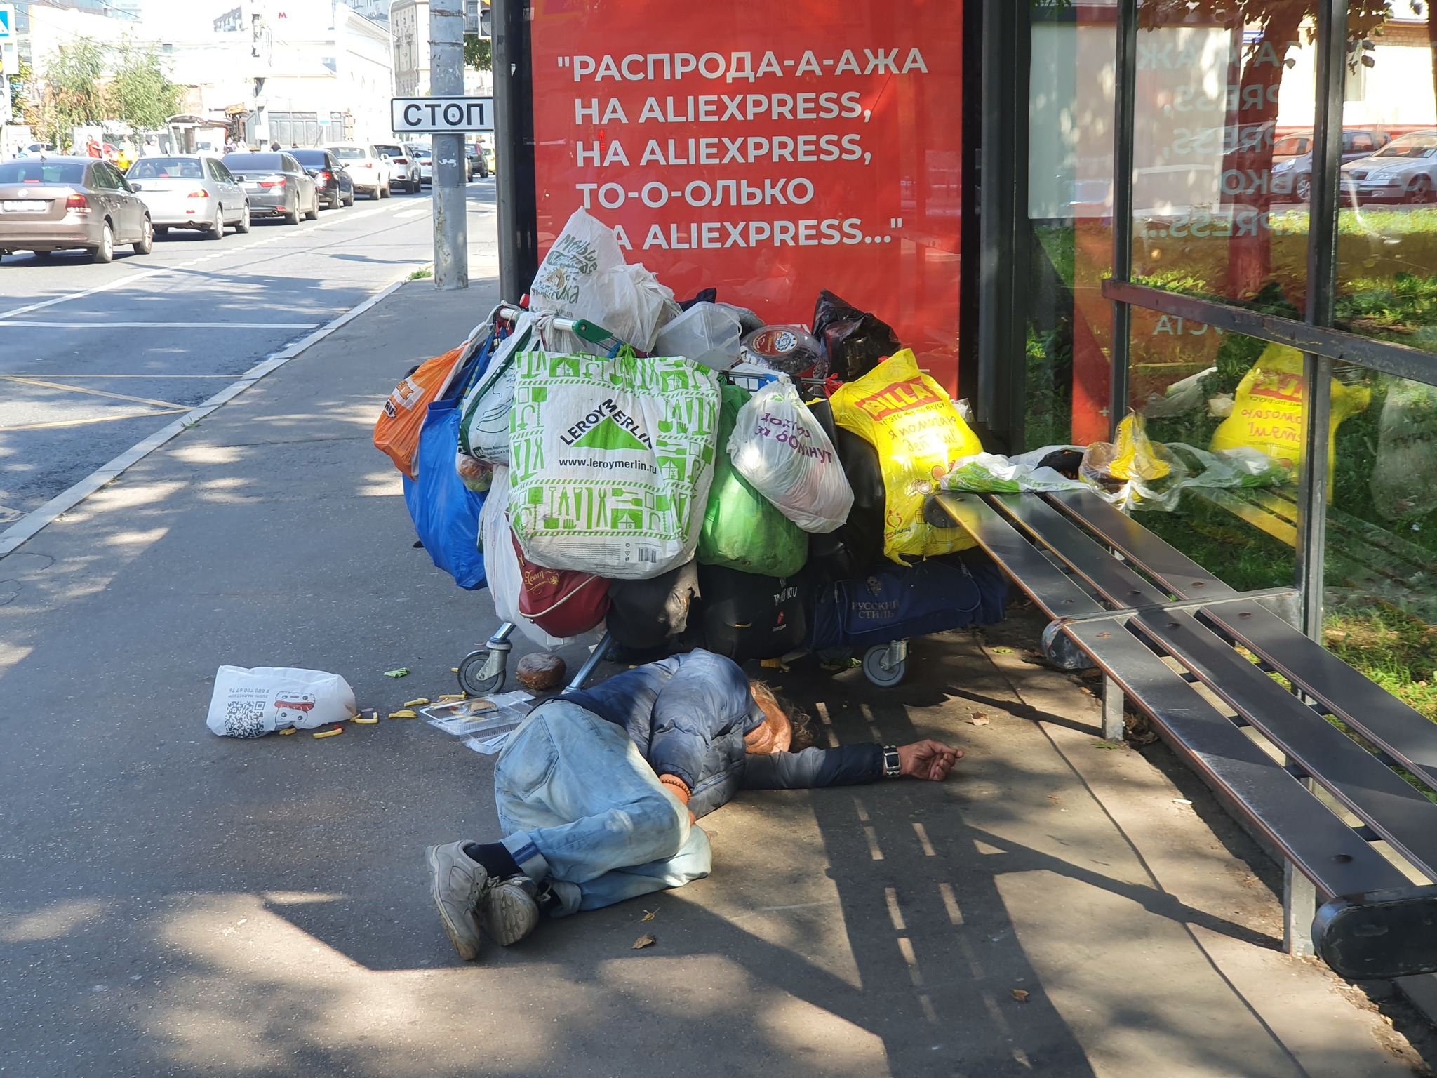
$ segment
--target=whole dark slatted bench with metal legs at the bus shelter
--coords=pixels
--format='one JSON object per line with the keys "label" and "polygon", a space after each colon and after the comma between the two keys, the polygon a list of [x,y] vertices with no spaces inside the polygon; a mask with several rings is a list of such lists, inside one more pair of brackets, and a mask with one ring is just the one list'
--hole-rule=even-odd
{"label": "whole dark slatted bench with metal legs at the bus shelter", "polygon": [[1348,977],[1437,970],[1437,803],[1398,773],[1437,789],[1437,726],[1273,612],[1295,592],[1237,592],[1086,492],[933,510],[1052,619],[1045,650],[1102,670],[1105,737],[1129,700],[1279,852],[1289,952]]}

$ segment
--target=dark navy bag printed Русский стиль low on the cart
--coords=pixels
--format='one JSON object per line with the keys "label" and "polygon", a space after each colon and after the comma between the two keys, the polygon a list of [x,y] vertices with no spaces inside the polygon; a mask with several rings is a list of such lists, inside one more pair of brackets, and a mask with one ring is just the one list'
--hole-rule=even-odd
{"label": "dark navy bag printed \u0420\u0443\u0441\u0441\u043a\u0438\u0439 \u0441\u0442\u0438\u043b\u044c low on the cart", "polygon": [[890,565],[829,584],[813,608],[809,648],[867,648],[1002,621],[1007,584],[981,555]]}

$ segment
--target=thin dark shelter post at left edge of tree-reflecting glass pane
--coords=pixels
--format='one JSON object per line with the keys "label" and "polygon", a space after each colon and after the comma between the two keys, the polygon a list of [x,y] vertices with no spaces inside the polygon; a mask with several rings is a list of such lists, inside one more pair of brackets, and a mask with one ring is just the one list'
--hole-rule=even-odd
{"label": "thin dark shelter post at left edge of tree-reflecting glass pane", "polygon": [[[1118,55],[1114,88],[1112,145],[1112,279],[1132,277],[1132,142],[1138,95],[1138,0],[1118,1]],[[1117,436],[1128,414],[1128,356],[1132,336],[1132,308],[1112,305],[1112,348],[1109,356],[1111,397],[1108,427]]]}

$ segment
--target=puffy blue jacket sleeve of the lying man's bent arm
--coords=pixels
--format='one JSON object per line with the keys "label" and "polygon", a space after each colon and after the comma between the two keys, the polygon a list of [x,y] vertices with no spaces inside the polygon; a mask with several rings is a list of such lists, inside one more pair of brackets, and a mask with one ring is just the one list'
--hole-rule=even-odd
{"label": "puffy blue jacket sleeve of the lying man's bent arm", "polygon": [[657,775],[697,785],[713,740],[750,723],[749,678],[730,660],[707,651],[684,657],[654,701],[648,762]]}

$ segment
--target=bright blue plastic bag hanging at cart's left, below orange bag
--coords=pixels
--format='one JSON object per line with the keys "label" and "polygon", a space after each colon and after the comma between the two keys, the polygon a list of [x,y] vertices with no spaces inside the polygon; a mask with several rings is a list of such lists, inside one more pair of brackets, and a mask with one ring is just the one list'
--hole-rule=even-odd
{"label": "bright blue plastic bag hanging at cart's left, below orange bag", "polygon": [[460,588],[473,591],[484,586],[484,555],[479,550],[479,510],[484,506],[484,494],[466,487],[454,470],[458,420],[457,397],[430,405],[414,454],[420,477],[405,477],[404,503],[434,565]]}

